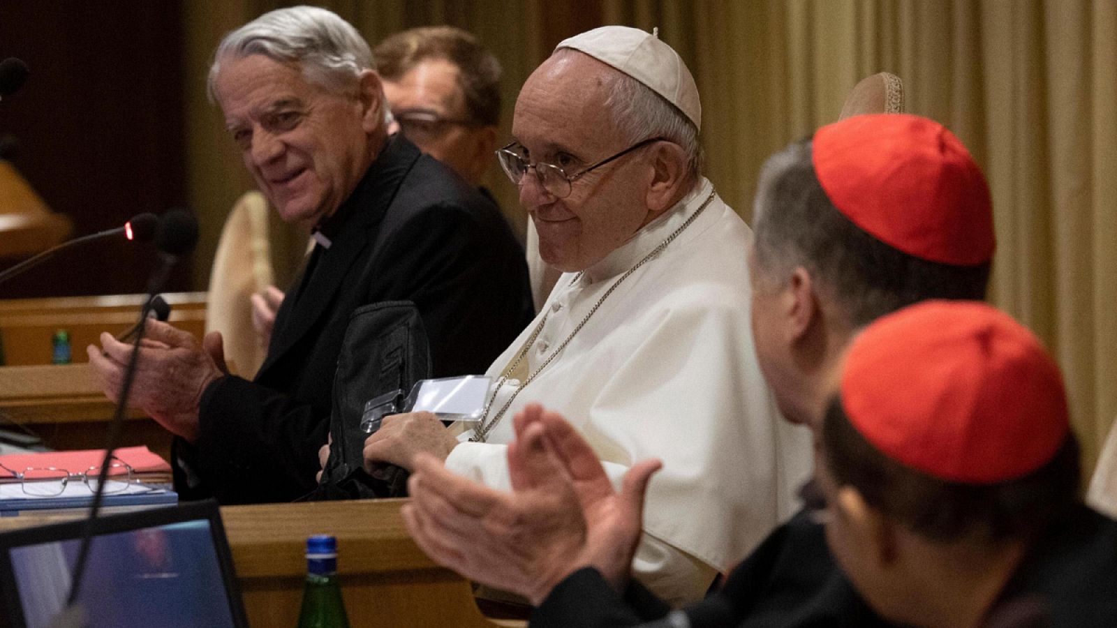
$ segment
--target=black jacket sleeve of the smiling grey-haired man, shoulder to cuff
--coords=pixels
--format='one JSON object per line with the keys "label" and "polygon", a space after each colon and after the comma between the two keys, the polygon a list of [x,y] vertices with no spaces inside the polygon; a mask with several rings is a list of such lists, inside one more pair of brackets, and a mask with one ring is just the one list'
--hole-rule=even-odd
{"label": "black jacket sleeve of the smiling grey-haired man, shoulder to cuff", "polygon": [[[384,301],[416,304],[431,343],[435,377],[484,372],[531,316],[523,254],[469,208],[432,204],[407,215],[383,246],[359,261],[315,344],[271,371],[300,370],[285,389],[228,377],[202,398],[197,447],[176,446],[222,504],[295,499],[315,486],[349,315]],[[522,287],[519,286],[522,283]],[[181,485],[182,483],[178,483]]]}

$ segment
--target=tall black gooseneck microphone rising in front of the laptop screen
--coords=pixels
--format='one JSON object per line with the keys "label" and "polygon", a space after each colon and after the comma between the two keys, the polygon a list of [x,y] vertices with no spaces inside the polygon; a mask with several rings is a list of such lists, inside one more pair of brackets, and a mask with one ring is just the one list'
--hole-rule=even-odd
{"label": "tall black gooseneck microphone rising in front of the laptop screen", "polygon": [[101,463],[101,474],[97,476],[97,489],[93,493],[89,516],[86,518],[85,531],[82,534],[82,545],[78,548],[77,563],[74,567],[70,591],[66,601],[66,612],[74,609],[82,590],[82,577],[85,574],[86,563],[89,558],[89,543],[93,540],[93,522],[96,521],[97,514],[101,512],[105,483],[108,478],[108,467],[112,464],[116,444],[121,439],[121,428],[124,426],[124,415],[128,407],[128,396],[132,392],[132,382],[135,380],[140,345],[143,343],[143,335],[147,329],[149,313],[155,302],[155,295],[163,289],[163,284],[166,283],[171,267],[174,266],[174,263],[180,257],[192,251],[197,244],[198,221],[194,220],[193,216],[182,209],[172,209],[163,215],[162,220],[159,221],[159,230],[155,234],[155,248],[159,249],[160,265],[152,273],[147,284],[147,298],[144,301],[143,308],[140,312],[140,323],[136,329],[135,341],[132,344],[132,353],[128,355],[128,363],[124,368],[124,381],[121,383],[116,411],[108,424],[105,458]]}

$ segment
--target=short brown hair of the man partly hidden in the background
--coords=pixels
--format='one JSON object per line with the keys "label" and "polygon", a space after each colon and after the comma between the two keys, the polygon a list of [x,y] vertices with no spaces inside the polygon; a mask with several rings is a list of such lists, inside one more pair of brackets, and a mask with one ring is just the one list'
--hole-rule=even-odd
{"label": "short brown hair of the man partly hidden in the background", "polygon": [[399,80],[428,59],[450,61],[458,67],[458,87],[470,122],[500,123],[500,61],[469,32],[452,26],[412,28],[381,41],[372,56],[376,72],[388,80]]}

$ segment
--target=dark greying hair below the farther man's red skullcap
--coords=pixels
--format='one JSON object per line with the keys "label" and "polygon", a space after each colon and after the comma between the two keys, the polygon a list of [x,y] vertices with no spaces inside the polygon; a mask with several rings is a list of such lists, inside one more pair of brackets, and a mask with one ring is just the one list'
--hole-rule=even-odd
{"label": "dark greying hair below the farther man's red skullcap", "polygon": [[832,291],[853,326],[929,298],[985,297],[989,263],[928,261],[886,245],[846,218],[819,183],[810,140],[791,144],[764,164],[754,230],[756,261],[764,272],[805,267]]}

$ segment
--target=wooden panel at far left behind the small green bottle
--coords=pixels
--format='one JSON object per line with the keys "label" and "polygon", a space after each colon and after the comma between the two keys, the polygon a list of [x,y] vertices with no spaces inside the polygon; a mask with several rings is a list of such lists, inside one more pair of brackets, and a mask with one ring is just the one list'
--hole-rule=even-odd
{"label": "wooden panel at far left behind the small green bottle", "polygon": [[[206,293],[165,293],[163,298],[171,305],[170,321],[201,337]],[[86,345],[99,344],[102,332],[116,334],[134,325],[143,299],[141,294],[125,294],[0,301],[3,363],[49,364],[51,339],[58,330],[70,334],[74,362],[86,362]]]}

